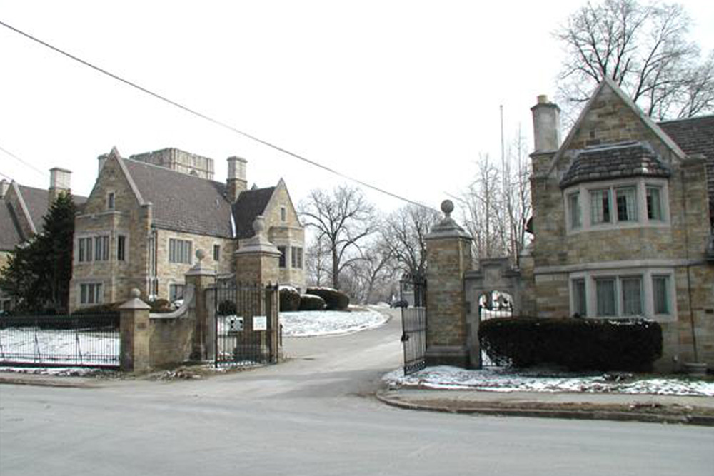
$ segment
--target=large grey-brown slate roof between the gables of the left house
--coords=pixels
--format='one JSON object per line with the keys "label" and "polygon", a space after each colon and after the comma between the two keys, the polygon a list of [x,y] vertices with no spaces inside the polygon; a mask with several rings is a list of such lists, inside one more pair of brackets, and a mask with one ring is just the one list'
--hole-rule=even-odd
{"label": "large grey-brown slate roof between the gables of the left house", "polygon": [[144,201],[151,202],[154,225],[174,231],[232,238],[226,184],[149,163],[121,159]]}

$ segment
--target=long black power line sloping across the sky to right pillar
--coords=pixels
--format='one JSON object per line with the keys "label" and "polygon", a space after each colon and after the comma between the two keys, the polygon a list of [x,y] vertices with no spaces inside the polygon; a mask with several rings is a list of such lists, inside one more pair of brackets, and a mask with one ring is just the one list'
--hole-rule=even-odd
{"label": "long black power line sloping across the sky to right pillar", "polygon": [[196,111],[196,110],[194,110],[194,109],[192,109],[192,108],[189,108],[188,106],[183,106],[183,104],[181,104],[181,103],[178,103],[178,102],[176,102],[176,101],[172,101],[171,99],[166,98],[165,96],[161,96],[161,94],[159,94],[159,93],[154,93],[154,91],[151,91],[151,90],[149,90],[149,89],[147,89],[147,88],[144,88],[144,86],[139,86],[138,84],[136,84],[136,83],[134,83],[134,82],[132,82],[132,81],[129,81],[129,80],[127,80],[127,79],[122,78],[121,76],[118,76],[118,75],[116,75],[116,74],[114,74],[114,73],[111,73],[111,72],[107,71],[106,69],[102,69],[102,68],[100,68],[99,66],[96,66],[96,65],[94,65],[94,64],[91,64],[91,63],[89,63],[89,61],[85,61],[84,59],[81,59],[81,58],[79,58],[78,56],[74,56],[73,54],[70,54],[70,53],[68,53],[68,52],[66,52],[66,51],[64,51],[64,50],[62,50],[62,49],[59,49],[59,48],[56,47],[56,46],[52,46],[51,44],[47,43],[46,41],[42,41],[41,39],[38,39],[38,38],[36,38],[35,36],[32,36],[31,34],[28,34],[28,33],[24,32],[24,31],[22,31],[22,30],[16,29],[14,26],[11,26],[11,25],[9,25],[9,24],[6,24],[4,21],[1,21],[1,20],[0,20],[0,25],[5,26],[7,29],[10,29],[10,30],[14,31],[14,32],[16,32],[17,34],[21,34],[22,36],[26,37],[27,39],[31,39],[32,41],[35,41],[36,43],[39,43],[39,44],[41,44],[42,46],[46,46],[47,48],[49,48],[49,49],[51,49],[51,50],[54,50],[54,51],[56,51],[57,53],[68,57],[69,59],[73,59],[74,61],[77,61],[77,62],[79,62],[79,63],[81,63],[81,64],[84,64],[84,66],[87,66],[87,67],[89,67],[89,68],[91,68],[91,69],[94,69],[95,71],[99,71],[99,73],[101,73],[101,74],[104,74],[104,75],[106,75],[106,76],[109,76],[109,77],[112,78],[112,79],[116,79],[116,81],[119,81],[119,82],[121,82],[121,83],[124,83],[124,84],[126,84],[127,86],[131,86],[132,88],[138,89],[138,90],[141,91],[142,93],[146,93],[146,94],[148,94],[149,96],[153,96],[154,98],[159,99],[159,101],[164,101],[165,103],[169,103],[169,104],[171,104],[171,106],[177,107],[177,108],[179,108],[179,109],[181,109],[181,110],[183,110],[183,111],[185,111],[185,112],[187,112],[187,113],[193,114],[193,116],[197,116],[198,118],[201,118],[201,119],[203,119],[203,120],[205,120],[205,121],[208,121],[208,122],[211,122],[211,123],[216,124],[216,126],[221,126],[221,127],[223,127],[223,128],[228,129],[229,131],[233,131],[233,132],[235,132],[235,133],[240,134],[240,135],[243,136],[243,137],[249,138],[249,139],[251,139],[252,141],[256,141],[256,142],[258,142],[258,143],[261,143],[261,144],[263,144],[263,146],[267,146],[267,147],[273,148],[273,149],[276,150],[276,151],[282,152],[282,153],[284,153],[284,154],[286,154],[286,155],[288,155],[288,156],[291,156],[291,157],[293,157],[293,158],[297,158],[297,159],[300,160],[300,161],[303,161],[303,162],[305,162],[305,163],[308,163],[308,164],[310,164],[311,166],[315,166],[315,167],[321,168],[321,169],[323,169],[324,171],[328,171],[328,172],[330,172],[330,173],[333,173],[334,175],[339,176],[339,177],[341,177],[341,178],[346,178],[347,180],[353,181],[354,183],[358,183],[359,185],[364,186],[364,187],[366,187],[366,188],[371,188],[373,191],[377,191],[377,192],[379,192],[379,193],[383,193],[383,194],[385,194],[385,195],[387,195],[387,196],[391,196],[392,198],[397,198],[398,200],[404,201],[404,202],[406,202],[406,203],[411,203],[411,204],[416,205],[416,206],[420,206],[420,207],[423,207],[423,208],[431,208],[431,207],[428,207],[428,206],[426,206],[426,205],[423,205],[422,203],[418,203],[418,202],[413,201],[413,200],[410,200],[410,199],[408,199],[408,198],[404,198],[403,196],[399,196],[399,195],[397,195],[396,193],[392,193],[392,192],[390,192],[390,191],[386,191],[386,190],[384,190],[383,188],[380,188],[380,187],[377,187],[377,186],[373,186],[373,185],[371,185],[370,183],[366,183],[365,181],[359,180],[358,178],[353,178],[353,177],[351,177],[351,176],[348,176],[348,175],[346,175],[346,173],[342,173],[342,172],[336,171],[335,169],[333,169],[333,168],[331,168],[331,167],[325,166],[325,165],[323,165],[323,164],[321,164],[321,163],[318,163],[318,162],[316,162],[316,161],[313,161],[313,160],[311,160],[311,159],[309,159],[309,158],[306,158],[306,157],[304,157],[304,156],[301,156],[301,155],[299,155],[299,154],[297,154],[297,153],[288,151],[286,148],[282,148],[282,147],[280,147],[280,146],[276,146],[275,144],[273,144],[273,143],[271,143],[271,142],[268,142],[268,141],[264,141],[263,139],[258,138],[258,137],[256,137],[256,136],[253,136],[253,135],[250,134],[250,133],[243,132],[243,131],[239,130],[238,128],[235,128],[235,127],[231,126],[231,125],[228,124],[228,123],[225,123],[225,122],[223,122],[223,121],[219,121],[218,119],[212,118],[211,116],[208,116],[208,115],[206,115],[206,114],[204,114],[204,113],[198,112],[198,111]]}

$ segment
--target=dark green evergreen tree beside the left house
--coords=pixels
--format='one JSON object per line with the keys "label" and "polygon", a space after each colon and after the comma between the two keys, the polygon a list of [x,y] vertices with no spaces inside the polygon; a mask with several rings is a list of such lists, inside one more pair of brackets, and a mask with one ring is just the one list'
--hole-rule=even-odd
{"label": "dark green evergreen tree beside the left house", "polygon": [[44,216],[41,233],[16,246],[0,270],[0,288],[18,300],[20,309],[67,310],[75,213],[71,195],[61,194]]}

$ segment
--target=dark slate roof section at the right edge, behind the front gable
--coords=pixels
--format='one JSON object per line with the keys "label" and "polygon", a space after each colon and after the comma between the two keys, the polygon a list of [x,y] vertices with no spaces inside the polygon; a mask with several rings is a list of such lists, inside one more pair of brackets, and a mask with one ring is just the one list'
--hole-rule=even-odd
{"label": "dark slate roof section at the right edge, behind the front gable", "polygon": [[658,126],[688,156],[701,153],[706,157],[709,200],[714,202],[714,116],[665,121]]}

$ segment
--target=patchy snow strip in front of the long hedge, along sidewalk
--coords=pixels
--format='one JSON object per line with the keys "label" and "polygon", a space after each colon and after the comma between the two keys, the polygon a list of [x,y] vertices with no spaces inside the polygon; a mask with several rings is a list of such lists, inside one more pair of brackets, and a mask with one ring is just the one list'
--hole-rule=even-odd
{"label": "patchy snow strip in front of the long hedge, along sidewalk", "polygon": [[714,382],[686,378],[640,378],[630,374],[575,375],[542,370],[516,372],[506,368],[464,370],[428,367],[403,375],[394,370],[384,376],[390,385],[448,390],[486,390],[489,392],[575,392],[575,393],[650,393],[714,397]]}

